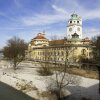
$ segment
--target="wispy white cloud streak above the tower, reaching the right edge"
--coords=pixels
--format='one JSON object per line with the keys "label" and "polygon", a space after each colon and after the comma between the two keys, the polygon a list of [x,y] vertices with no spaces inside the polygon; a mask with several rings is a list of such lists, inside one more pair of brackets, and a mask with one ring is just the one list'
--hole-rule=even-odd
{"label": "wispy white cloud streak above the tower, reaching the right edge", "polygon": [[[74,11],[83,17],[83,20],[86,19],[95,19],[100,18],[100,7],[95,7],[94,9],[89,9],[86,6],[83,6],[79,0],[55,0],[53,2],[53,8],[60,13],[66,13],[67,15],[72,14]],[[86,1],[85,1],[86,2]],[[91,2],[92,6],[93,1]],[[88,6],[90,6],[88,5]]]}

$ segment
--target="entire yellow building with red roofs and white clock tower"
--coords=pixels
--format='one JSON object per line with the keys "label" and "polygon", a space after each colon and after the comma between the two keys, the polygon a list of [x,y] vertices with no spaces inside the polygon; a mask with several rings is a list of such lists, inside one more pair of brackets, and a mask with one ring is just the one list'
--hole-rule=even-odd
{"label": "entire yellow building with red roofs and white clock tower", "polygon": [[48,40],[44,33],[38,33],[28,46],[27,58],[34,61],[78,62],[81,57],[92,58],[92,41],[82,38],[82,18],[72,14],[68,20],[67,37]]}

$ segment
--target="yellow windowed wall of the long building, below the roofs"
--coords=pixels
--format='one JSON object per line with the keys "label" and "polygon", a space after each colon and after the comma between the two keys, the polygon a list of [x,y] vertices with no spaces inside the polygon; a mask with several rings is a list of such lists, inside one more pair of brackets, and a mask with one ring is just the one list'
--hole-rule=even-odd
{"label": "yellow windowed wall of the long building, below the roofs", "polygon": [[[84,50],[84,55],[82,54]],[[28,50],[28,57],[35,61],[51,61],[51,62],[65,62],[67,59],[69,62],[78,62],[80,56],[85,58],[91,58],[91,47],[41,47],[31,48]]]}

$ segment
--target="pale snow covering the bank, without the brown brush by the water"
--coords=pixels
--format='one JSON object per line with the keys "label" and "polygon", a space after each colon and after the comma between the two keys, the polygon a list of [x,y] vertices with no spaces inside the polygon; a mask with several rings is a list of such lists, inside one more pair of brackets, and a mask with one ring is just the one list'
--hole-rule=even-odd
{"label": "pale snow covering the bank, without the brown brush by the water", "polygon": [[[0,64],[3,66],[3,63]],[[5,64],[6,65],[6,64]],[[3,67],[0,69],[0,81],[9,84],[10,86],[16,87],[16,83],[22,83],[25,80],[26,83],[31,82],[32,87],[36,87],[38,91],[43,92],[50,89],[56,88],[54,75],[52,76],[39,76],[37,73],[37,68],[32,63],[22,63],[19,65],[21,68],[13,71],[13,69],[7,69]],[[38,66],[37,66],[38,67]],[[6,73],[3,75],[3,73]],[[96,79],[81,78],[81,83],[79,86],[68,86],[68,89],[76,100],[80,100],[81,97],[90,97],[92,100],[100,100],[100,95],[98,94],[98,83]],[[30,96],[38,96],[36,91],[29,91],[27,94]],[[34,95],[33,95],[34,94]],[[74,100],[74,99],[71,99]]]}

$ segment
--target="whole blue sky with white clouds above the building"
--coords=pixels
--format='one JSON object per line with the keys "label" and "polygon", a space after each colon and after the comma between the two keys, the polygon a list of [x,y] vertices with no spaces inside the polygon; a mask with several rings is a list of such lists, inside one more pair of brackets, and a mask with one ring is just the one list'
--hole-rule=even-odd
{"label": "whole blue sky with white clouds above the building", "polygon": [[14,36],[29,42],[39,32],[64,38],[73,12],[82,17],[84,37],[100,35],[100,0],[0,0],[0,48]]}

